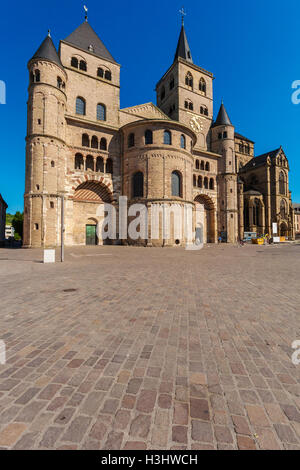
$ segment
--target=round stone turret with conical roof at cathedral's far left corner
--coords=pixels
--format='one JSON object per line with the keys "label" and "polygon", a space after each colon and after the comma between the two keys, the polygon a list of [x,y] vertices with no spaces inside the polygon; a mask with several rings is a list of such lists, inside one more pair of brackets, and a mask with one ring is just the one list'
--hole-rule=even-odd
{"label": "round stone turret with conical roof at cathedral's far left corner", "polygon": [[67,74],[50,32],[28,62],[24,245],[55,246],[64,187]]}

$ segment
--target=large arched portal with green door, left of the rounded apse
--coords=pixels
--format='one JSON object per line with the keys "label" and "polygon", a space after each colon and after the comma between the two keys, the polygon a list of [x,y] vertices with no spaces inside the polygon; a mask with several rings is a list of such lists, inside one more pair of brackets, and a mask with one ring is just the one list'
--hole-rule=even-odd
{"label": "large arched portal with green door, left of the rounded apse", "polygon": [[[75,245],[103,245],[99,208],[112,203],[112,193],[99,181],[85,181],[73,196],[73,242]],[[102,218],[103,219],[103,218]],[[100,235],[99,235],[100,233]]]}

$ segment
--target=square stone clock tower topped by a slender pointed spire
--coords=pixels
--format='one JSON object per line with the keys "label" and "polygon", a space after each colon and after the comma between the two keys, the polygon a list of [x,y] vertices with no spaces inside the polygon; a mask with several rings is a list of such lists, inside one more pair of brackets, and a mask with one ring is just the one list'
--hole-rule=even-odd
{"label": "square stone clock tower topped by a slender pointed spire", "polygon": [[[182,13],[182,12],[181,12]],[[184,20],[173,64],[156,85],[157,106],[197,133],[196,148],[210,147],[213,119],[213,74],[194,64]]]}

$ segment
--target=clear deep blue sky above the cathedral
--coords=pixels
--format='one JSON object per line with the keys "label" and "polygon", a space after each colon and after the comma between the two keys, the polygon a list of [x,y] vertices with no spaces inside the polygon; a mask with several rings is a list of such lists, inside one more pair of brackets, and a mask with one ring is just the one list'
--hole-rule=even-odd
{"label": "clear deep blue sky above the cathedral", "polygon": [[[16,0],[5,6],[0,193],[9,212],[23,209],[27,61],[49,28],[58,46],[83,21],[84,1],[91,26],[122,64],[121,107],[155,103],[155,84],[173,61],[183,0]],[[216,78],[215,115],[223,98],[237,132],[256,142],[256,155],[283,146],[293,201],[300,202],[300,104],[291,101],[292,82],[300,80],[299,0],[185,0],[184,5],[194,63]]]}

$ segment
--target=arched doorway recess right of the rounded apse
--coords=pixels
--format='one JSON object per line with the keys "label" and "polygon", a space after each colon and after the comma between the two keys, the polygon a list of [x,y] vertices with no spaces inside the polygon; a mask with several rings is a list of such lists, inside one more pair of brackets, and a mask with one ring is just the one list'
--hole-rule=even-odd
{"label": "arched doorway recess right of the rounded apse", "polygon": [[204,194],[195,197],[195,232],[201,243],[216,243],[215,204]]}

